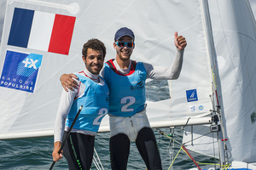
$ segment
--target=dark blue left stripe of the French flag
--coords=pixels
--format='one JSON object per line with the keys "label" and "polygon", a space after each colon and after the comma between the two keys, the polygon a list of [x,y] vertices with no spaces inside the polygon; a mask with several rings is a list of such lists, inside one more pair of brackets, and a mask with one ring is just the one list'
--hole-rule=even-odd
{"label": "dark blue left stripe of the French flag", "polygon": [[15,8],[8,45],[26,48],[33,20],[34,11]]}

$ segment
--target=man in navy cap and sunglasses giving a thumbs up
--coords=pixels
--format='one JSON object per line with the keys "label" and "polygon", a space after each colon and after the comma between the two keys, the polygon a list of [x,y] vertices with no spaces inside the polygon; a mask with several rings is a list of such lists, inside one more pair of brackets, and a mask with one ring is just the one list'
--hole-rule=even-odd
{"label": "man in navy cap and sunglasses giving a thumbs up", "polygon": [[[127,167],[130,143],[135,141],[148,170],[162,169],[160,153],[154,132],[146,115],[145,81],[151,79],[174,80],[179,77],[183,65],[183,49],[187,42],[175,32],[177,54],[170,67],[153,66],[131,60],[135,48],[135,35],[131,29],[122,27],[114,36],[113,48],[116,58],[105,63],[102,77],[109,88],[109,150],[113,170]],[[63,88],[76,87],[73,74],[62,75]],[[136,85],[137,88],[132,88]],[[132,87],[131,87],[132,86]],[[67,87],[67,88],[66,88]]]}

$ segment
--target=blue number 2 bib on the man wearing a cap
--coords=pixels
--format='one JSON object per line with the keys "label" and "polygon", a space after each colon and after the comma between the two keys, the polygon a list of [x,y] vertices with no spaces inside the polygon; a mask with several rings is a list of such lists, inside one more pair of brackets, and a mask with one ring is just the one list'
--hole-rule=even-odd
{"label": "blue number 2 bib on the man wearing a cap", "polygon": [[104,79],[110,92],[110,116],[133,116],[144,109],[147,71],[143,63],[131,62],[131,71],[127,75],[121,75],[116,70],[113,59],[105,63]]}

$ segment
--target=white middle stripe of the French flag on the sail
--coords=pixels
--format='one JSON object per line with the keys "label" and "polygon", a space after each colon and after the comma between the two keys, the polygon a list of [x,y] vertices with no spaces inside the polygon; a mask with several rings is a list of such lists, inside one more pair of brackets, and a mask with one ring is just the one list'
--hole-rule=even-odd
{"label": "white middle stripe of the French flag on the sail", "polygon": [[27,48],[48,51],[55,14],[35,11]]}

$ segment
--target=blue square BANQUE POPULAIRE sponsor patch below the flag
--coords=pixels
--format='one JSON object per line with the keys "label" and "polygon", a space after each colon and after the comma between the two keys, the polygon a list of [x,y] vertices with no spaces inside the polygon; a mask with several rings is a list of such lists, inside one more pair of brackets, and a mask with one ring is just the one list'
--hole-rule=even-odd
{"label": "blue square BANQUE POPULAIRE sponsor patch below the flag", "polygon": [[33,93],[43,55],[7,51],[0,87]]}

